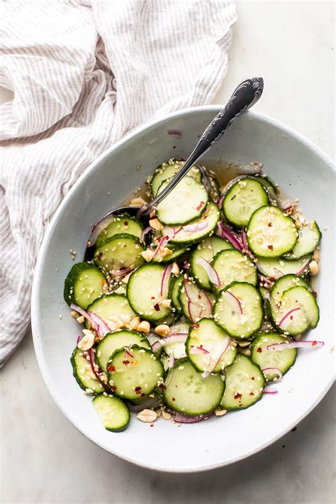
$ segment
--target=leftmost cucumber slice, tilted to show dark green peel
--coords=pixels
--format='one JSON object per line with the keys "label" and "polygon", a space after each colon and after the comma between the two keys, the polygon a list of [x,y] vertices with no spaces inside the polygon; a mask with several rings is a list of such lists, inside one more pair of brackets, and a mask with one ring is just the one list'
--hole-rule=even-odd
{"label": "leftmost cucumber slice, tilted to show dark green peel", "polygon": [[74,264],[65,279],[64,298],[68,305],[74,303],[86,309],[107,287],[105,275],[93,264]]}

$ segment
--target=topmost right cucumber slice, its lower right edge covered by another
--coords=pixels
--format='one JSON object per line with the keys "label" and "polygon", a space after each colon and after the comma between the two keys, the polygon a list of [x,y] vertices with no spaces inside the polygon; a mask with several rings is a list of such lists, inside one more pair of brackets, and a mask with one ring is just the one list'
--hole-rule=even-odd
{"label": "topmost right cucumber slice, its lower right edge covered by another", "polygon": [[223,199],[223,212],[235,226],[245,227],[253,212],[269,202],[267,192],[258,180],[241,178],[230,187]]}

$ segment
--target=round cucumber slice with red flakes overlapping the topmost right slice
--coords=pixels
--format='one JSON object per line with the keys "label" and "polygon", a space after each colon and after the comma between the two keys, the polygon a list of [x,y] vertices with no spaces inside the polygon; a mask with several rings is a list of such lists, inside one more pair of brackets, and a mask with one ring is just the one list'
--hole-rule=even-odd
{"label": "round cucumber slice with red flakes overlapping the topmost right slice", "polygon": [[257,209],[247,226],[247,241],[257,256],[278,257],[291,251],[298,239],[293,219],[277,207]]}

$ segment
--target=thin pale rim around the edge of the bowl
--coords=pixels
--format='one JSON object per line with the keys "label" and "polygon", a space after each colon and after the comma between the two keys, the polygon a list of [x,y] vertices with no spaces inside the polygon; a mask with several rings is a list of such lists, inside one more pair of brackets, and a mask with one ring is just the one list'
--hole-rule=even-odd
{"label": "thin pale rim around the edge of the bowl", "polygon": [[[318,398],[315,399],[315,401],[310,404],[310,406],[302,412],[302,414],[296,419],[295,422],[292,422],[289,424],[287,427],[281,430],[279,434],[277,434],[275,437],[272,439],[267,440],[267,442],[260,443],[257,445],[257,447],[254,447],[253,449],[247,450],[243,452],[242,454],[232,457],[231,459],[223,462],[218,462],[215,464],[208,464],[206,466],[198,466],[196,468],[188,468],[188,469],[174,469],[170,468],[167,469],[165,467],[159,467],[155,466],[154,464],[146,464],[145,462],[142,463],[140,461],[134,461],[133,459],[130,459],[128,456],[124,456],[123,454],[117,454],[116,452],[113,451],[113,449],[108,449],[101,442],[99,442],[98,439],[94,435],[87,435],[82,431],[82,428],[80,425],[74,421],[71,415],[69,415],[69,412],[62,406],[62,404],[59,402],[57,398],[57,387],[55,385],[54,380],[52,380],[49,372],[48,372],[48,367],[47,367],[47,361],[45,360],[45,355],[43,353],[43,346],[41,344],[41,339],[42,339],[42,334],[40,332],[40,327],[38,323],[38,292],[39,292],[39,284],[41,280],[41,272],[42,272],[42,267],[43,267],[43,259],[45,256],[45,249],[47,248],[47,244],[50,241],[50,237],[52,236],[53,229],[55,227],[55,224],[57,224],[57,221],[60,217],[60,214],[62,214],[63,209],[67,206],[67,202],[70,198],[72,198],[72,194],[77,190],[77,187],[79,185],[82,185],[84,181],[86,180],[87,177],[96,170],[96,167],[101,164],[103,160],[108,158],[114,150],[118,149],[123,143],[127,142],[130,140],[130,138],[133,138],[137,136],[139,133],[142,131],[145,131],[146,129],[151,128],[152,126],[157,126],[159,124],[164,124],[167,119],[172,119],[174,117],[179,117],[179,116],[185,116],[188,114],[191,114],[193,112],[208,112],[208,111],[213,111],[213,112],[219,112],[220,109],[222,109],[223,106],[220,106],[219,104],[212,104],[212,105],[201,105],[201,106],[194,106],[194,107],[189,107],[186,109],[181,109],[179,111],[174,111],[170,112],[169,114],[165,114],[164,116],[158,118],[158,119],[153,119],[152,121],[148,121],[147,123],[143,124],[142,126],[139,126],[138,128],[135,128],[135,130],[131,131],[127,135],[125,135],[121,140],[118,142],[114,143],[113,146],[109,147],[106,149],[101,155],[99,155],[96,160],[94,160],[88,168],[82,173],[82,175],[78,178],[78,180],[74,183],[72,188],[69,190],[65,198],[62,200],[60,203],[60,206],[57,208],[55,211],[55,214],[53,215],[50,223],[47,226],[47,230],[45,231],[45,236],[43,237],[43,241],[40,246],[40,251],[38,253],[38,258],[36,261],[35,265],[35,272],[33,276],[33,286],[32,286],[32,292],[31,292],[31,308],[30,308],[30,317],[31,317],[31,329],[32,329],[32,334],[33,334],[33,344],[34,344],[34,349],[35,349],[35,355],[38,361],[38,366],[40,368],[40,372],[42,374],[43,380],[45,381],[45,385],[47,386],[47,389],[49,390],[49,393],[52,397],[52,400],[54,400],[55,404],[63,415],[67,417],[67,420],[74,425],[74,427],[81,432],[89,441],[93,442],[97,446],[99,446],[101,449],[104,449],[105,451],[108,451],[109,453],[113,454],[114,456],[118,456],[123,460],[126,460],[128,462],[131,462],[132,464],[135,464],[137,466],[141,466],[145,469],[151,469],[154,471],[160,471],[160,472],[166,472],[166,473],[198,473],[201,471],[210,471],[211,469],[217,469],[219,467],[224,467],[228,466],[230,464],[234,464],[237,461],[241,461],[243,459],[246,459],[248,456],[251,456],[253,454],[257,454],[259,451],[261,451],[264,448],[269,447],[271,444],[276,442],[278,439],[283,437],[287,432],[289,432],[293,427],[295,427],[299,422],[301,422],[317,405],[318,403],[325,397],[327,394],[328,390],[330,390],[332,384],[334,383],[335,378],[332,378],[326,385],[323,391],[320,393]],[[266,114],[261,114],[259,112],[255,111],[247,111],[246,114],[248,116],[251,116],[253,119],[257,119],[259,121],[262,121],[266,124],[269,124],[271,126],[275,126],[276,128],[279,129],[282,133],[291,136],[292,138],[296,139],[297,141],[300,141],[303,143],[307,148],[310,150],[313,150],[316,155],[318,155],[325,164],[330,165],[331,170],[335,173],[336,172],[336,167],[335,163],[330,158],[320,147],[316,146],[315,143],[310,141],[308,138],[305,136],[301,135],[301,133],[298,133],[295,131],[293,128],[290,126],[286,126],[285,124],[281,123],[280,121],[277,121],[276,119],[272,119],[271,117],[267,116]]]}

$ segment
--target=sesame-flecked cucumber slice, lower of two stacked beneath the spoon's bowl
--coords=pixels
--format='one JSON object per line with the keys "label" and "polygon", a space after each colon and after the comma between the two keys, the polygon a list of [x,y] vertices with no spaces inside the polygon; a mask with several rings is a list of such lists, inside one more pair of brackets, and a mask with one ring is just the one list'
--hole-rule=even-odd
{"label": "sesame-flecked cucumber slice, lower of two stacked beneath the spoon's bowl", "polygon": [[138,268],[145,262],[145,245],[131,234],[115,234],[96,248],[94,262],[103,270]]}

